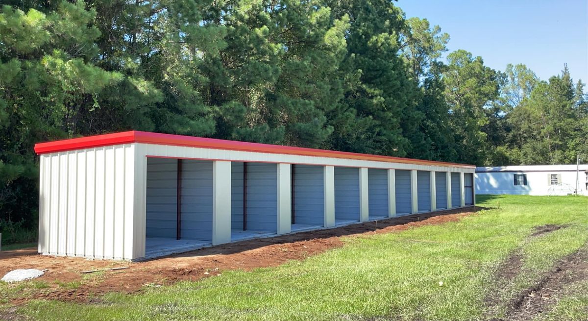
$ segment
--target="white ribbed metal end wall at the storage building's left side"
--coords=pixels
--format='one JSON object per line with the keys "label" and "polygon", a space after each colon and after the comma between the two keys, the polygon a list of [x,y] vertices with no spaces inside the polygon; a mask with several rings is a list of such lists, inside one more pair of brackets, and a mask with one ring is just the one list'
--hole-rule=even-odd
{"label": "white ribbed metal end wall at the storage building's left side", "polygon": [[39,252],[132,258],[134,153],[126,144],[41,155]]}

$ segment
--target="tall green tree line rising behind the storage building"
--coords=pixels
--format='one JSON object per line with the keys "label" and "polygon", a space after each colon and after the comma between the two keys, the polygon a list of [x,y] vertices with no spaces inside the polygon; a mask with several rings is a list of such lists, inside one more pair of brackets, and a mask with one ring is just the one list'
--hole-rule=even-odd
{"label": "tall green tree line rising behind the storage building", "polygon": [[[505,72],[387,0],[8,0],[0,219],[38,207],[36,142],[131,129],[516,165],[588,159],[567,67]],[[505,48],[507,51],[507,48]]]}

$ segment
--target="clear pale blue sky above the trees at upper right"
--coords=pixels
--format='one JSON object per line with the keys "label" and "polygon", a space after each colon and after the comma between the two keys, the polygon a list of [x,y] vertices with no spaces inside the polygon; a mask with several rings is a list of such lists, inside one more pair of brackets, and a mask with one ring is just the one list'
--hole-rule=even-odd
{"label": "clear pale blue sky above the trees at upper right", "polygon": [[407,18],[426,18],[447,32],[449,52],[465,49],[500,71],[507,63],[524,63],[543,80],[560,73],[567,63],[574,82],[588,82],[587,0],[399,0],[395,4]]}

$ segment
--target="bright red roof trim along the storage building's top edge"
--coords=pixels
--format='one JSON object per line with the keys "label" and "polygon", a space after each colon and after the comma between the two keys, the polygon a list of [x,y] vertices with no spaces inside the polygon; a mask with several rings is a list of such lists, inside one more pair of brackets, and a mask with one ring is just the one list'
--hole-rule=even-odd
{"label": "bright red roof trim along the storage building's top edge", "polygon": [[288,155],[318,156],[330,158],[375,160],[378,162],[410,163],[417,165],[453,166],[459,168],[475,168],[474,165],[458,163],[436,162],[433,160],[410,159],[393,156],[370,155],[362,153],[326,151],[324,149],[302,148],[262,143],[225,141],[223,139],[202,138],[183,135],[171,135],[151,132],[121,132],[105,135],[87,136],[82,138],[64,139],[62,141],[38,143],[35,152],[38,154],[72,151],[75,149],[93,148],[99,146],[120,145],[124,143],[150,143],[156,145],[190,146],[211,149],[226,149],[229,151],[279,153]]}

